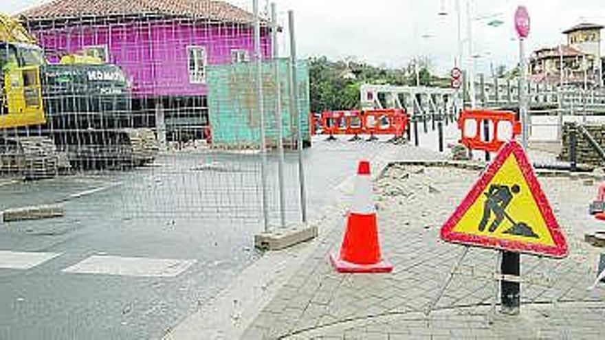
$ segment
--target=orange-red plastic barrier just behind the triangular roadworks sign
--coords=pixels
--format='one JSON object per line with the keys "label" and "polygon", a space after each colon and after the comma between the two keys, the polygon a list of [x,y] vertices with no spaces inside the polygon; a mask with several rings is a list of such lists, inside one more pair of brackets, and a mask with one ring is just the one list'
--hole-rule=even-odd
{"label": "orange-red plastic barrier just behind the triangular roadworks sign", "polygon": [[[485,140],[484,122],[491,127],[489,138]],[[511,111],[462,111],[458,119],[458,128],[462,133],[461,144],[472,150],[497,152],[507,141],[521,133],[521,123],[516,114]],[[509,128],[509,136],[504,136],[505,128]]]}

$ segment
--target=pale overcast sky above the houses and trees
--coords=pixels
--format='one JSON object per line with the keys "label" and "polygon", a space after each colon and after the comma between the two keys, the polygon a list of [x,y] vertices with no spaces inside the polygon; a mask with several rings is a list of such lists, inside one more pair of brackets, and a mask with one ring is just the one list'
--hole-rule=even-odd
{"label": "pale overcast sky above the houses and trees", "polygon": [[[16,14],[49,0],[1,0],[0,12]],[[259,0],[261,6],[265,0]],[[603,0],[471,0],[472,17],[492,14],[504,23],[487,25],[491,19],[473,21],[473,54],[478,69],[512,65],[518,59],[518,42],[512,23],[517,5],[526,5],[531,16],[528,49],[564,42],[562,30],[580,21],[605,23]],[[252,0],[230,0],[247,10]],[[445,72],[457,51],[456,0],[276,0],[282,25],[286,10],[296,15],[298,53],[301,57],[325,55],[352,57],[375,65],[400,67],[415,56],[428,56],[436,71]],[[463,39],[467,0],[460,0]],[[448,12],[439,16],[441,10]],[[604,46],[602,46],[603,49]],[[285,47],[284,47],[285,50]],[[464,46],[467,56],[467,45]]]}

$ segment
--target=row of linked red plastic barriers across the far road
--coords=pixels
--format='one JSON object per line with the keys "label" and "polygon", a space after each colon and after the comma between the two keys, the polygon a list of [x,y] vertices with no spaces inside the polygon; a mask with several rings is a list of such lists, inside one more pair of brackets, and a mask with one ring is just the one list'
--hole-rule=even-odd
{"label": "row of linked red plastic barriers across the far road", "polygon": [[[318,124],[319,122],[319,124]],[[406,133],[408,115],[400,109],[367,111],[326,111],[320,117],[311,114],[314,133],[322,135],[395,135]]]}

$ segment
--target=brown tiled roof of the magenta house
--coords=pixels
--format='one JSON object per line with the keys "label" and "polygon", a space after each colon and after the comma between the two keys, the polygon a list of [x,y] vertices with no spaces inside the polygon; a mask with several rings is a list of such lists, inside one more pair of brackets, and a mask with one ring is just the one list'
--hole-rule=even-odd
{"label": "brown tiled roof of the magenta house", "polygon": [[140,14],[186,16],[234,23],[250,23],[253,19],[250,12],[224,1],[213,0],[54,0],[25,10],[19,16],[30,21],[45,21]]}

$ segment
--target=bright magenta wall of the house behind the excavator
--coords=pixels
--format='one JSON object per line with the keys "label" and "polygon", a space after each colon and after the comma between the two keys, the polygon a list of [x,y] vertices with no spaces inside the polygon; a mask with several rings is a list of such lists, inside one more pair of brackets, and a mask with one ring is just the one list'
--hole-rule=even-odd
{"label": "bright magenta wall of the house behind the excavator", "polygon": [[[109,63],[122,67],[138,96],[206,95],[204,83],[190,81],[188,47],[203,47],[207,65],[232,63],[232,52],[254,54],[254,30],[236,23],[184,20],[55,26],[30,30],[51,62],[85,47],[107,46]],[[261,31],[263,58],[270,58],[270,32]],[[242,53],[242,52],[240,52]],[[245,53],[245,52],[244,52]]]}

